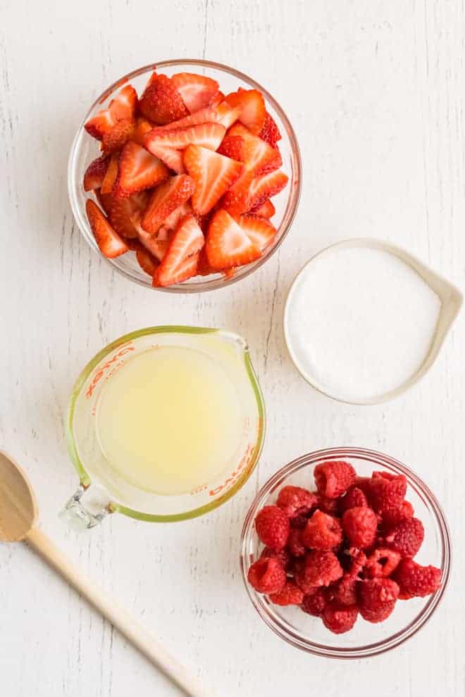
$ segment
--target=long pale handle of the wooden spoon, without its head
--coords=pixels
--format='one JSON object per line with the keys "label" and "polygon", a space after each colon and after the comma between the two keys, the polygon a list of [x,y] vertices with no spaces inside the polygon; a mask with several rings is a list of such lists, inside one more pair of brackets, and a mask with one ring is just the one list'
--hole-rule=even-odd
{"label": "long pale handle of the wooden spoon, without its head", "polygon": [[84,596],[94,608],[99,610],[101,615],[106,617],[121,634],[136,646],[151,663],[154,663],[164,674],[191,697],[211,697],[193,676],[189,675],[185,668],[178,663],[155,639],[152,634],[147,632],[140,622],[121,608],[113,598],[106,595],[87,577],[77,570],[77,567],[70,563],[63,553],[39,528],[30,530],[26,537],[27,542],[42,557],[54,567],[59,574],[74,586],[78,593]]}

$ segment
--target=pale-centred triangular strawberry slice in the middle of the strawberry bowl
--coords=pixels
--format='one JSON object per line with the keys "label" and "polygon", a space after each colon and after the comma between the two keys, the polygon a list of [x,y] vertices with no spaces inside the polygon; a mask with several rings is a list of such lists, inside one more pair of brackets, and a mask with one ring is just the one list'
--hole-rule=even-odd
{"label": "pale-centred triangular strawberry slice in the middle of the strawberry bowl", "polygon": [[195,182],[192,208],[199,215],[205,215],[213,208],[242,170],[240,162],[197,145],[187,148],[184,163]]}

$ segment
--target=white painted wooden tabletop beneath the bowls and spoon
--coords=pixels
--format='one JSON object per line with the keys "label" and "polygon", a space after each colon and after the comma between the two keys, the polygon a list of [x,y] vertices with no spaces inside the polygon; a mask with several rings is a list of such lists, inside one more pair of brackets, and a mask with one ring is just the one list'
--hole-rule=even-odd
{"label": "white painted wooden tabletop beneath the bowls and spoon", "polygon": [[[373,236],[459,286],[465,270],[465,31],[461,0],[4,1],[1,39],[0,447],[24,464],[42,527],[221,697],[463,697],[465,326],[430,374],[385,406],[319,396],[285,351],[283,301],[304,260]],[[304,160],[297,221],[256,275],[199,296],[155,294],[94,255],[73,222],[68,150],[91,99],[139,65],[206,57],[251,73],[284,106]],[[147,325],[228,327],[252,346],[268,410],[261,463],[211,515],[176,525],[113,516],[81,536],[58,510],[77,478],[63,415],[77,373]],[[242,588],[238,542],[254,492],[316,448],[377,448],[414,467],[447,510],[446,597],[411,641],[345,663],[287,646]],[[0,693],[177,695],[24,546],[0,546]]]}

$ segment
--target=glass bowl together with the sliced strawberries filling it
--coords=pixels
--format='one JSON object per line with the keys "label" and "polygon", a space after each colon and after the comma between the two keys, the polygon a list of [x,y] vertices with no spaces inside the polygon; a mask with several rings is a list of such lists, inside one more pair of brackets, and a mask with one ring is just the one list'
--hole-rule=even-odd
{"label": "glass bowl together with the sliced strawberries filling it", "polygon": [[278,249],[302,163],[283,109],[211,61],[147,65],[99,96],[77,131],[68,187],[92,249],[144,286],[221,288]]}

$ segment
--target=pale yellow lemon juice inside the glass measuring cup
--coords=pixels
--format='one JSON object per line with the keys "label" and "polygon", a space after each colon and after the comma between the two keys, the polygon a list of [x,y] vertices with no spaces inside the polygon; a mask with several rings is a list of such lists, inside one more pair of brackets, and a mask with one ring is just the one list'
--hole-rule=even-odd
{"label": "pale yellow lemon juice inside the glass measuring cup", "polygon": [[126,360],[101,389],[95,416],[109,466],[156,494],[183,494],[218,479],[244,449],[236,385],[194,348],[159,346]]}

